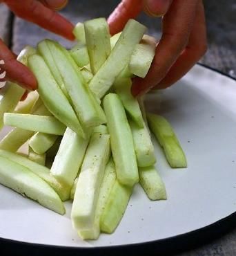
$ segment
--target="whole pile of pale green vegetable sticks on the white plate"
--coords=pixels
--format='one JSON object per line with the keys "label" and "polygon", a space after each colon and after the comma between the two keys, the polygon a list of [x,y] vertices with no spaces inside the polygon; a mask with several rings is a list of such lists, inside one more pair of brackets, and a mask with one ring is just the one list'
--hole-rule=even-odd
{"label": "whole pile of pale green vegetable sticks on the white plate", "polygon": [[8,82],[0,98],[0,129],[14,127],[0,141],[0,183],[59,214],[71,199],[82,239],[114,232],[137,183],[150,200],[166,199],[149,127],[170,166],[187,166],[168,121],[146,114],[130,92],[155,55],[145,31],[130,19],[110,37],[99,18],[75,26],[78,44],[69,51],[49,39],[27,46],[18,60],[37,77],[37,92],[19,102],[24,89]]}

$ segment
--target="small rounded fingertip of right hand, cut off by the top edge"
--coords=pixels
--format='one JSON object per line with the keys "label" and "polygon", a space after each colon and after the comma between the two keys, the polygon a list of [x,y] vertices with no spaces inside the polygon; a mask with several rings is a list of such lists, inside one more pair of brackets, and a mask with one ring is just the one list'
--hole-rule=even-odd
{"label": "small rounded fingertip of right hand, cut off by the top edge", "polygon": [[144,12],[153,17],[166,14],[173,0],[144,0]]}

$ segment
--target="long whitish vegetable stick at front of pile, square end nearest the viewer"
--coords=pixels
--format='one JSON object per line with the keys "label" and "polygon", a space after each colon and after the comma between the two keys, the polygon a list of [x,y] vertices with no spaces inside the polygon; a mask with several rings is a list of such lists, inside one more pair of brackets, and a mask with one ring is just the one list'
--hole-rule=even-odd
{"label": "long whitish vegetable stick at front of pile, square end nearest the viewer", "polygon": [[72,204],[72,224],[77,231],[91,230],[95,226],[99,190],[109,157],[110,136],[92,134]]}

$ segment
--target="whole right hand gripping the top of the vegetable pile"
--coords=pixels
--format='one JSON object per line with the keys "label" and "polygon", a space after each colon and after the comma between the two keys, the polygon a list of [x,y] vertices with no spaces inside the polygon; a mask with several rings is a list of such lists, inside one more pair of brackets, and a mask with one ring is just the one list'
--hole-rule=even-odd
{"label": "whole right hand gripping the top of the vegetable pile", "polygon": [[121,31],[141,10],[153,17],[162,16],[162,36],[150,71],[144,79],[135,77],[133,81],[134,96],[177,82],[207,48],[202,0],[123,0],[108,18],[110,33]]}

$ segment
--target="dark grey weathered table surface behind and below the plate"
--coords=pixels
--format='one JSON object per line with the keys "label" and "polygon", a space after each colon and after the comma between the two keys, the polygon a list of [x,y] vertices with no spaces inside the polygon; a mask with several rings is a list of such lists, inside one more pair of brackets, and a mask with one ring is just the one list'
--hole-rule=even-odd
{"label": "dark grey weathered table surface behind and below the plate", "polygon": [[[61,13],[76,24],[78,21],[84,21],[93,17],[108,17],[117,3],[119,3],[119,0],[70,0],[68,7]],[[208,29],[208,51],[199,62],[216,68],[226,75],[236,77],[236,0],[208,0],[204,1],[204,4],[206,7]],[[148,26],[151,35],[155,35],[157,38],[160,37],[160,19],[153,19],[146,17],[146,15],[141,15],[139,20]],[[64,46],[71,46],[70,42],[61,39],[61,37],[52,35],[33,24],[28,24],[26,21],[14,17],[8,12],[8,9],[1,4],[0,37],[4,39],[6,44],[8,44],[15,53],[19,53],[26,44],[35,46],[40,39],[46,37],[57,39]],[[220,226],[217,226],[215,231],[208,233],[208,235],[205,236],[204,233],[201,234],[201,239],[197,237],[193,238],[199,239],[199,243],[195,241],[197,246],[194,245],[193,241],[190,241],[190,239],[188,243],[187,238],[185,238],[187,241],[183,244],[183,248],[179,248],[175,242],[173,242],[173,244],[167,244],[166,246],[175,246],[176,251],[179,251],[179,249],[184,250],[184,252],[177,254],[181,256],[236,255],[235,216],[233,218],[233,220],[231,219],[230,222],[227,222],[223,230]],[[6,246],[12,247],[11,244],[6,244]],[[16,249],[18,250],[17,246]],[[175,248],[173,249],[175,251]],[[153,253],[155,254],[155,252],[157,252],[156,255],[160,255],[158,248],[152,247],[152,250],[152,255]],[[6,251],[7,250],[4,250],[4,253],[6,253]],[[44,251],[41,255],[45,253]],[[50,250],[50,253],[56,255],[53,253],[53,250]],[[66,252],[64,253],[66,255]],[[77,254],[76,252],[74,253]],[[147,251],[145,255],[148,254]],[[0,255],[5,255],[1,254],[1,246]],[[17,253],[15,255],[17,255]],[[29,253],[28,255],[32,254]],[[106,252],[104,252],[104,255],[107,255]],[[161,255],[164,255],[164,253],[161,253]]]}

